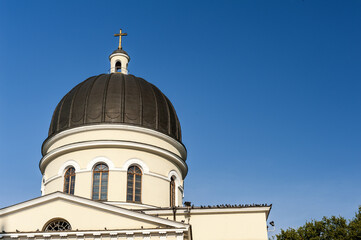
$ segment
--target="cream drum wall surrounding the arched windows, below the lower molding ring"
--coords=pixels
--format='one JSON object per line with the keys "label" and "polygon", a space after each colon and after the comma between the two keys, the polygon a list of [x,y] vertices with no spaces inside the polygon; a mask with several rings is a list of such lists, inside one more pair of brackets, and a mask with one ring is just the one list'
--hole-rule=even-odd
{"label": "cream drum wall surrounding the arched windows, below the lower molding ring", "polygon": [[[101,157],[100,157],[101,156]],[[143,166],[142,175],[142,203],[153,206],[170,204],[169,173],[175,171],[178,178],[181,172],[178,167],[167,159],[158,155],[132,149],[96,148],[80,150],[61,155],[50,161],[44,176],[44,192],[49,194],[63,191],[64,173],[69,166],[76,169],[74,194],[91,198],[92,194],[92,168],[98,161],[109,167],[108,201],[126,202],[127,161],[137,159]],[[136,164],[137,165],[137,164]],[[178,180],[180,186],[182,179]],[[177,188],[177,205],[182,205],[182,192]]]}

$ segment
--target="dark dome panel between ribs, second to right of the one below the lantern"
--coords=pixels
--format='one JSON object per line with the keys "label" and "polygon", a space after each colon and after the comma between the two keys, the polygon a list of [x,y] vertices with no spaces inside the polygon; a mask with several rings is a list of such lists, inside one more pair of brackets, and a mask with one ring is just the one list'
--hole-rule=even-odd
{"label": "dark dome panel between ribs, second to right of the one below the lantern", "polygon": [[139,80],[139,86],[142,96],[142,125],[148,128],[156,128],[157,104],[150,83],[144,79]]}

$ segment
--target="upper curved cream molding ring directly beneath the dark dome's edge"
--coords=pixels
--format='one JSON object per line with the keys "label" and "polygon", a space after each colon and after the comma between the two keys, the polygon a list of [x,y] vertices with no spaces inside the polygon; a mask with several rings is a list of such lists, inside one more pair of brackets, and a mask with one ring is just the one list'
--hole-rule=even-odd
{"label": "upper curved cream molding ring directly beneath the dark dome's edge", "polygon": [[132,131],[132,132],[139,132],[139,133],[145,133],[148,135],[151,135],[153,137],[160,138],[164,140],[165,142],[171,144],[174,146],[181,154],[181,158],[187,159],[187,150],[184,147],[184,145],[174,138],[158,132],[153,129],[138,127],[138,126],[131,126],[131,125],[125,125],[125,124],[97,124],[97,125],[90,125],[90,126],[81,126],[76,127],[72,129],[67,129],[65,131],[62,131],[54,136],[52,136],[49,139],[46,139],[44,141],[44,144],[42,146],[42,154],[43,156],[46,154],[46,152],[49,150],[50,146],[53,145],[56,141],[59,141],[60,139],[67,137],[69,135],[75,134],[75,133],[82,133],[87,131],[97,131],[97,130],[125,130],[125,131]]}

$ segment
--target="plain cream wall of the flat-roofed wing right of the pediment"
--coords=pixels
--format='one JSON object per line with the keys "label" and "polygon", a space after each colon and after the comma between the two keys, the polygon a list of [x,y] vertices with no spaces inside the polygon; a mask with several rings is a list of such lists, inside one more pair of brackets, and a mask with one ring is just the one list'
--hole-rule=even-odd
{"label": "plain cream wall of the flat-roofed wing right of the pediment", "polygon": [[[267,240],[269,207],[178,209],[176,221],[192,225],[196,240]],[[173,220],[172,210],[145,210]]]}

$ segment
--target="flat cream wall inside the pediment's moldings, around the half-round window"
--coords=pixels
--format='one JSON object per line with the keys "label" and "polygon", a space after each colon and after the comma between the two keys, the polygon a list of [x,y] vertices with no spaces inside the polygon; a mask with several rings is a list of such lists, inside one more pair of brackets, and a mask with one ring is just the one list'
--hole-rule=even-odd
{"label": "flat cream wall inside the pediment's moldings, around the half-round window", "polygon": [[72,229],[104,230],[107,229],[141,229],[156,228],[157,225],[138,221],[130,217],[122,217],[100,209],[94,209],[65,200],[45,202],[22,211],[12,212],[0,218],[0,226],[5,232],[42,231],[44,225],[51,219],[63,218]]}

